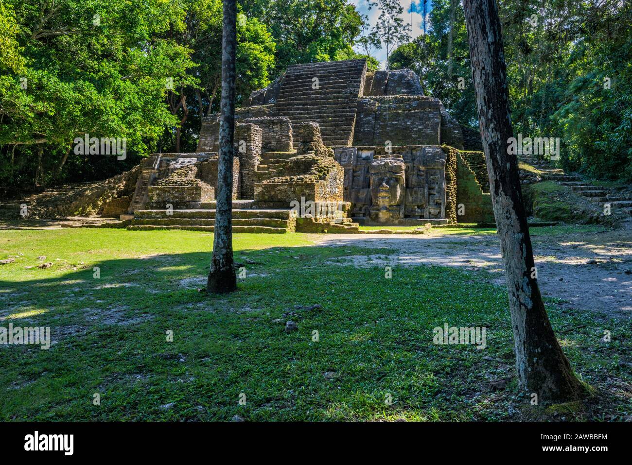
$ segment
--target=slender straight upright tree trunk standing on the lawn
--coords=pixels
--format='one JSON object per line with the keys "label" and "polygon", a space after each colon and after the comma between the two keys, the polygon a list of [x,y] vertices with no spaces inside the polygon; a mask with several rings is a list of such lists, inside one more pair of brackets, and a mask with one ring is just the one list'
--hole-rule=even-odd
{"label": "slender straight upright tree trunk standing on the lawn", "polygon": [[222,96],[219,123],[219,164],[217,166],[217,203],[213,258],[210,264],[207,291],[231,293],[237,289],[233,266],[233,157],[235,51],[237,48],[236,0],[224,0],[222,29]]}

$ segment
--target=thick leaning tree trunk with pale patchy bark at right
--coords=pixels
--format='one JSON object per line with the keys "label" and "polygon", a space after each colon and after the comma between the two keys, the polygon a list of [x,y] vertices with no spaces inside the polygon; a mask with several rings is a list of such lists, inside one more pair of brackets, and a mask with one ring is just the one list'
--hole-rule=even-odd
{"label": "thick leaning tree trunk with pale patchy bark at right", "polygon": [[495,0],[464,0],[490,192],[505,265],[520,387],[538,402],[578,399],[582,386],[551,328],[533,272],[518,160],[507,154],[513,137],[501,23]]}

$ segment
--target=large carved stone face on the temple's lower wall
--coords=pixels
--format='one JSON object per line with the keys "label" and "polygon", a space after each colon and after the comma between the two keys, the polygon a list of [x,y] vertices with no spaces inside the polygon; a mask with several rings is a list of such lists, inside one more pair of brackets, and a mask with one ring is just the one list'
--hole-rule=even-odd
{"label": "large carved stone face on the temple's lower wall", "polygon": [[404,202],[406,166],[398,158],[381,158],[369,167],[371,219],[380,223],[399,218]]}

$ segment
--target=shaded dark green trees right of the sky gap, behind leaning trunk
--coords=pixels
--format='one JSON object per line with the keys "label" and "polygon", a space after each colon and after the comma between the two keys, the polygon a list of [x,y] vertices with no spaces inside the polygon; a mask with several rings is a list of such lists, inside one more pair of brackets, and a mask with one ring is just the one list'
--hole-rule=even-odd
{"label": "shaded dark green trees right of the sky gap, behind leaning trunk", "polygon": [[[629,0],[501,0],[499,6],[516,134],[559,137],[566,169],[632,179]],[[458,0],[433,1],[427,35],[401,45],[391,66],[414,69],[428,95],[477,127]]]}

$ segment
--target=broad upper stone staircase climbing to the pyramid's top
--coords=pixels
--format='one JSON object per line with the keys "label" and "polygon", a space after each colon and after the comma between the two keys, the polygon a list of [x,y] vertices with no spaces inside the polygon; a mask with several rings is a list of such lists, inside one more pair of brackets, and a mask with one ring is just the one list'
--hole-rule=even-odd
{"label": "broad upper stone staircase climbing to the pyramid's top", "polygon": [[[325,145],[351,145],[366,71],[363,59],[289,66],[274,116],[289,118],[293,126],[315,121]],[[313,88],[314,78],[318,78],[317,88]]]}

